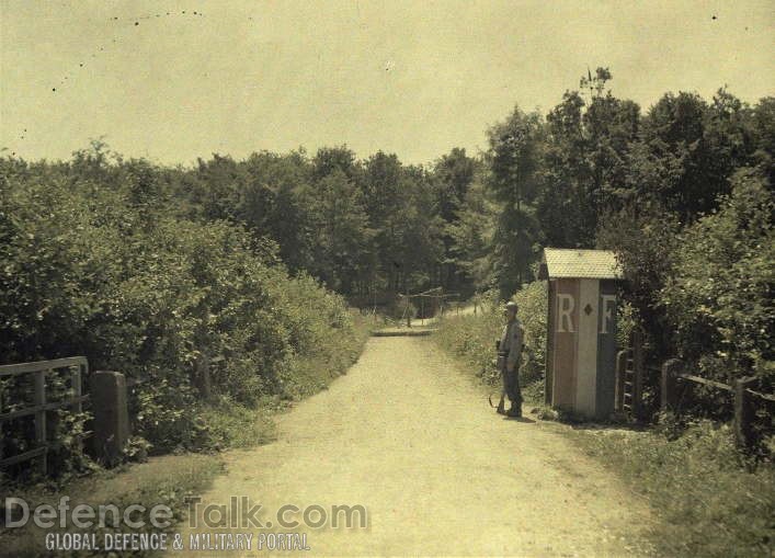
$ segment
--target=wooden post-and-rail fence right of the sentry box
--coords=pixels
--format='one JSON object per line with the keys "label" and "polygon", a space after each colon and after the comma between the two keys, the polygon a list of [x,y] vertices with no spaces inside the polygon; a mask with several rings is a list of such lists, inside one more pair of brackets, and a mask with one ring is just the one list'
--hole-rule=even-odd
{"label": "wooden post-and-rail fence right of the sentry box", "polygon": [[742,448],[751,448],[754,444],[753,420],[756,414],[756,405],[762,402],[775,402],[775,396],[760,394],[751,389],[756,382],[755,378],[745,377],[736,379],[730,386],[721,382],[702,378],[684,372],[684,363],[677,358],[671,358],[662,365],[660,408],[663,412],[680,410],[679,400],[683,388],[687,384],[697,384],[714,389],[720,389],[732,394],[734,406],[734,437],[737,444]]}

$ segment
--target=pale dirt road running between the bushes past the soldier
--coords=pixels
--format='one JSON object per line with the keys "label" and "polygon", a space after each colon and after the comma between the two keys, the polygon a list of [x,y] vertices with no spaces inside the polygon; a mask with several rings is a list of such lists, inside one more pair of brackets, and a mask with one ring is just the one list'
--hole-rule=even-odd
{"label": "pale dirt road running between the bushes past the soldier", "polygon": [[283,504],[367,509],[366,529],[297,529],[312,555],[642,553],[649,509],[558,428],[494,414],[428,338],[373,338],[346,376],[280,417],[277,442],[229,453],[204,503],[244,494],[264,519]]}

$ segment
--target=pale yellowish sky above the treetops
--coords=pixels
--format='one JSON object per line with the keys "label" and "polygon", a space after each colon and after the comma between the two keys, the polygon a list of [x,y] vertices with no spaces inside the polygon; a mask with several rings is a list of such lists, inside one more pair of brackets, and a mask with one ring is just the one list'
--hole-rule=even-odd
{"label": "pale yellowish sky above the treetops", "polygon": [[0,148],[26,159],[104,136],[186,166],[341,144],[431,162],[588,66],[643,110],[775,94],[774,1],[0,0]]}

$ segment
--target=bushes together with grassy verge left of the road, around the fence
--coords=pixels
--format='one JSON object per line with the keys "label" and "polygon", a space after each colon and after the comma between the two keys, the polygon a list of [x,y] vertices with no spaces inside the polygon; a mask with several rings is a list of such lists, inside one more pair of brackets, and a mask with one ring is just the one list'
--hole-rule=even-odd
{"label": "bushes together with grassy verge left of the road, around the fence", "polygon": [[[100,468],[81,452],[89,413],[60,411],[49,432],[54,476],[29,464],[3,471],[3,497],[164,503],[179,522],[184,498],[220,472],[218,452],[272,440],[273,412],[358,357],[368,324],[342,296],[289,272],[271,239],[196,217],[181,201],[163,170],[109,159],[100,144],[66,163],[0,160],[2,364],[86,355],[92,371],[125,374],[134,434],[125,455],[147,462]],[[29,389],[0,382],[3,412],[25,406]],[[0,443],[8,456],[34,442],[10,422]],[[0,532],[0,554],[45,556],[44,535]]]}

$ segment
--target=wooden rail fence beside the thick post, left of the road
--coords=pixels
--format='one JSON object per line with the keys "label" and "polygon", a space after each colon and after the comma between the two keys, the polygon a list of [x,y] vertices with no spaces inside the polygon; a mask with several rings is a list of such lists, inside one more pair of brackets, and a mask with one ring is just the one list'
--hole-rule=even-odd
{"label": "wooden rail fence beside the thick post, left of the road", "polygon": [[[46,375],[53,374],[55,371],[61,368],[70,371],[70,389],[72,397],[60,401],[49,401],[46,394]],[[43,475],[46,475],[46,456],[52,447],[46,430],[46,414],[49,411],[66,408],[72,408],[76,412],[81,412],[83,403],[89,400],[89,396],[82,394],[82,382],[88,374],[89,363],[84,356],[0,366],[0,379],[10,376],[32,375],[35,386],[34,401],[31,407],[14,409],[8,412],[3,412],[3,408],[8,407],[8,405],[2,400],[2,394],[0,394],[0,426],[5,422],[23,417],[33,417],[35,421],[35,447],[19,455],[3,457],[3,447],[2,444],[0,444],[0,468],[7,468],[19,463],[39,458],[39,470]]]}

